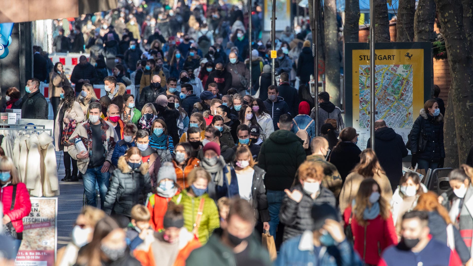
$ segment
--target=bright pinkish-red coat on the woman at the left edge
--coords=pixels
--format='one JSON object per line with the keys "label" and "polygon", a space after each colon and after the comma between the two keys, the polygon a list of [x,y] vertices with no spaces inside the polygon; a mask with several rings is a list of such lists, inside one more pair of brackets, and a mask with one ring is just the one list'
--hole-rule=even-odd
{"label": "bright pinkish-red coat on the woman at the left edge", "polygon": [[13,185],[9,184],[0,191],[0,200],[3,204],[3,215],[8,215],[11,223],[18,233],[23,232],[23,217],[29,215],[31,211],[31,202],[25,183],[17,184],[17,195],[15,197],[15,206],[10,211]]}

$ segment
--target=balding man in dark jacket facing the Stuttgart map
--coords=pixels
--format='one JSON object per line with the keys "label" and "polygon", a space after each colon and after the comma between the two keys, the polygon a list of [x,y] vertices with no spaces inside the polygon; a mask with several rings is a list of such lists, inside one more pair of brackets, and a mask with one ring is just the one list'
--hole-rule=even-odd
{"label": "balding man in dark jacket facing the Stuttgart map", "polygon": [[[406,145],[401,135],[386,126],[385,120],[377,120],[375,130],[375,152],[394,191],[403,176],[403,158],[407,156]],[[368,138],[366,148],[371,148],[371,138]]]}

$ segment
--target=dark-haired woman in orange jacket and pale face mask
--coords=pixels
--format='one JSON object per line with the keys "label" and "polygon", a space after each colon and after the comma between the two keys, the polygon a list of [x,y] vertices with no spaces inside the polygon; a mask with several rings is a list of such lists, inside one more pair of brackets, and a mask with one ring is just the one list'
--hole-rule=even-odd
{"label": "dark-haired woman in orange jacket and pale face mask", "polygon": [[190,186],[187,182],[187,176],[196,167],[199,167],[200,160],[192,157],[192,146],[187,143],[179,143],[174,148],[174,158],[172,160],[174,164],[175,173],[177,176],[177,184],[186,189]]}

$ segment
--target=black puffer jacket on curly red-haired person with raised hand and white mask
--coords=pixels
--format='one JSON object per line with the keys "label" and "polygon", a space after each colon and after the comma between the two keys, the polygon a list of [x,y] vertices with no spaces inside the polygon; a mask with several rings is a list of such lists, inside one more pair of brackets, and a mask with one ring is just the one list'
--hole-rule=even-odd
{"label": "black puffer jacket on curly red-haired person with raised hand and white mask", "polygon": [[302,192],[301,201],[297,203],[286,195],[282,200],[279,211],[280,222],[285,225],[284,235],[282,237],[283,241],[300,235],[305,230],[312,231],[313,220],[310,211],[314,204],[320,205],[326,203],[337,208],[337,199],[333,195],[332,191],[325,187],[320,187],[320,194],[315,199],[312,199],[312,197],[302,189],[300,183],[294,185],[294,187],[291,188],[291,191],[295,189]]}

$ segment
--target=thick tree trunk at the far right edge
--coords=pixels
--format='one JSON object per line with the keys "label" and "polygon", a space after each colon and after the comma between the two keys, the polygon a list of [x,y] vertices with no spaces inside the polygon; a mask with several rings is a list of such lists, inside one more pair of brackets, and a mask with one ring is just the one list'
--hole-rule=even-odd
{"label": "thick tree trunk at the far right edge", "polygon": [[[455,135],[458,147],[458,161],[464,163],[473,144],[473,69],[471,51],[468,47],[463,27],[461,0],[436,0],[438,21],[445,38],[448,65],[452,76],[451,98],[455,116]],[[447,105],[448,106],[448,105]],[[451,119],[450,116],[447,119]],[[450,124],[451,122],[447,123]],[[452,134],[452,129],[444,127],[444,136]],[[447,145],[452,145],[451,141]],[[450,149],[448,147],[447,149]]]}

